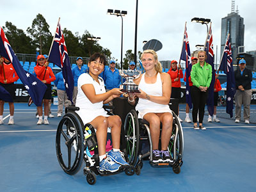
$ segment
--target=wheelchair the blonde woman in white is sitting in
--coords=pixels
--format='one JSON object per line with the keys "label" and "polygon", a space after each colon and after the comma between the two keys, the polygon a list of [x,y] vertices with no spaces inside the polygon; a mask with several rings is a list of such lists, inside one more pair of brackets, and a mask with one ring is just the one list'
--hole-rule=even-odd
{"label": "wheelchair the blonde woman in white is sitting in", "polygon": [[[180,173],[180,166],[182,166],[182,155],[184,150],[184,139],[182,126],[179,122],[178,116],[173,113],[173,129],[172,136],[168,145],[168,150],[173,158],[173,163],[154,163],[152,162],[152,141],[150,138],[149,124],[146,120],[138,119],[137,112],[131,109],[127,113],[124,122],[125,143],[128,163],[135,167],[136,175],[140,175],[143,167],[143,159],[148,159],[152,166],[171,166],[174,173]],[[161,140],[161,135],[160,139]],[[161,145],[161,142],[159,142]],[[146,152],[143,152],[143,146]],[[161,148],[161,146],[159,146]]]}

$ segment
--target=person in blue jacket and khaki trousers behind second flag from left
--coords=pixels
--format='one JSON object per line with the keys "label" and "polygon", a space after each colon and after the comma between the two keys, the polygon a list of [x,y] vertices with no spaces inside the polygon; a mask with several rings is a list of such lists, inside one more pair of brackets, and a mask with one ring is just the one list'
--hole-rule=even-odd
{"label": "person in blue jacket and khaki trousers behind second flag from left", "polygon": [[68,107],[68,98],[67,98],[65,84],[63,81],[62,71],[58,72],[58,74],[56,74],[56,79],[54,81],[54,84],[57,86],[57,94],[58,94],[57,116],[60,117],[60,116],[62,116],[62,112],[63,112],[63,104],[64,104],[65,108]]}

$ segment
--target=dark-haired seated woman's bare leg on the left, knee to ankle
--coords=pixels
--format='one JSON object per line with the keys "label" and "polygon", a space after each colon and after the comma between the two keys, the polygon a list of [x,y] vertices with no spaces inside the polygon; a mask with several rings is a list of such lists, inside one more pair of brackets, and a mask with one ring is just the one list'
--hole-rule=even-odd
{"label": "dark-haired seated woman's bare leg on the left, knee to ankle", "polygon": [[104,116],[97,116],[90,124],[97,129],[96,136],[99,147],[99,156],[106,154],[106,141],[108,131],[108,119]]}

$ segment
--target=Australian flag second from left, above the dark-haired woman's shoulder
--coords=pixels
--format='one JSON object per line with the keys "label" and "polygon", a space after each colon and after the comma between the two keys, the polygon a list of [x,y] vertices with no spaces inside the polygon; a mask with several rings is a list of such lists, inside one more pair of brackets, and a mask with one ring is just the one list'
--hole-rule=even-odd
{"label": "Australian flag second from left, above the dark-haired woman's shoulder", "polygon": [[73,103],[72,94],[74,89],[74,77],[68,58],[67,46],[60,28],[60,19],[58,20],[58,26],[52,40],[52,47],[50,49],[48,60],[61,68],[68,100]]}

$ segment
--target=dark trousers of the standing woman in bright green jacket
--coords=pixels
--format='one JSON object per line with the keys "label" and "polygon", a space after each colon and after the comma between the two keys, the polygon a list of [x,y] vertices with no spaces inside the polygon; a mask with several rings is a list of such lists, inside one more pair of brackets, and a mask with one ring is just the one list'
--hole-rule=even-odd
{"label": "dark trousers of the standing woman in bright green jacket", "polygon": [[193,102],[193,110],[192,117],[193,123],[197,122],[197,114],[199,109],[199,123],[202,124],[204,120],[204,108],[207,100],[208,90],[207,92],[201,92],[199,88],[196,86],[192,86],[191,88],[191,99]]}

